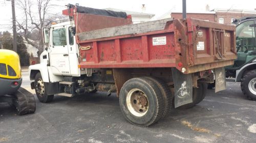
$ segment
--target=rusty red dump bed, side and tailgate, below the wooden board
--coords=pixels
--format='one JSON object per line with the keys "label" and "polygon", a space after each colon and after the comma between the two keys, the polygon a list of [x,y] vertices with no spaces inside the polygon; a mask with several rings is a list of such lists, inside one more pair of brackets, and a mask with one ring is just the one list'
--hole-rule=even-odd
{"label": "rusty red dump bed, side and tailgate, below the wooden board", "polygon": [[[78,20],[81,20],[78,18]],[[82,21],[82,20],[81,20]],[[184,74],[232,65],[235,27],[196,19],[167,21],[164,30],[79,41],[82,68],[176,67]],[[161,40],[159,40],[161,39]]]}

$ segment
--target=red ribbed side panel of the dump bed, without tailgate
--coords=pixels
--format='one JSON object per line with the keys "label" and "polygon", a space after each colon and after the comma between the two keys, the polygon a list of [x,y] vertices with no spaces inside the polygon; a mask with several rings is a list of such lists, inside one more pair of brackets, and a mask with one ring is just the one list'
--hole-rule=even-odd
{"label": "red ribbed side panel of the dump bed, without tailgate", "polygon": [[[165,45],[153,45],[154,39],[162,37],[166,38]],[[160,33],[81,43],[91,49],[80,50],[80,65],[83,68],[175,67],[173,42],[173,33]]]}

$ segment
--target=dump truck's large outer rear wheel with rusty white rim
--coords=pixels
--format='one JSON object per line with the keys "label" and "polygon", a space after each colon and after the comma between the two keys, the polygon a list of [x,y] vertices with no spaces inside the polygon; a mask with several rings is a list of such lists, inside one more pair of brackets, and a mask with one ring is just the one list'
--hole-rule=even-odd
{"label": "dump truck's large outer rear wheel with rusty white rim", "polygon": [[150,126],[163,117],[164,99],[158,85],[147,78],[127,80],[120,91],[119,103],[127,121]]}

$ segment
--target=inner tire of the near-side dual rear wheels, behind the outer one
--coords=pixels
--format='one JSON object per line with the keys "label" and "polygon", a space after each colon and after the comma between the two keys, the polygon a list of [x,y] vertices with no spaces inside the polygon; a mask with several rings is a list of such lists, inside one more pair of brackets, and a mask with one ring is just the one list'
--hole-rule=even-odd
{"label": "inner tire of the near-side dual rear wheels, behind the outer one", "polygon": [[164,104],[165,104],[162,118],[165,118],[166,116],[168,116],[168,114],[170,112],[170,109],[172,109],[172,107],[174,106],[173,105],[174,103],[173,103],[173,100],[172,100],[174,98],[174,95],[172,94],[172,92],[170,92],[170,89],[168,88],[168,85],[164,81],[162,81],[161,79],[156,78],[156,77],[150,77],[150,76],[147,76],[145,78],[150,79],[153,82],[155,82],[155,84],[161,90],[161,93],[162,93],[163,99],[164,99]]}

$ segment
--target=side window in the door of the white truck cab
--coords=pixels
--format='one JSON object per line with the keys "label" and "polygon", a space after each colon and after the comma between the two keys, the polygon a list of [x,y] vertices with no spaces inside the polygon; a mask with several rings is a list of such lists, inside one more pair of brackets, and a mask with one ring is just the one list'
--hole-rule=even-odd
{"label": "side window in the door of the white truck cab", "polygon": [[67,45],[67,36],[66,29],[59,28],[52,31],[52,42],[53,46],[66,46]]}

